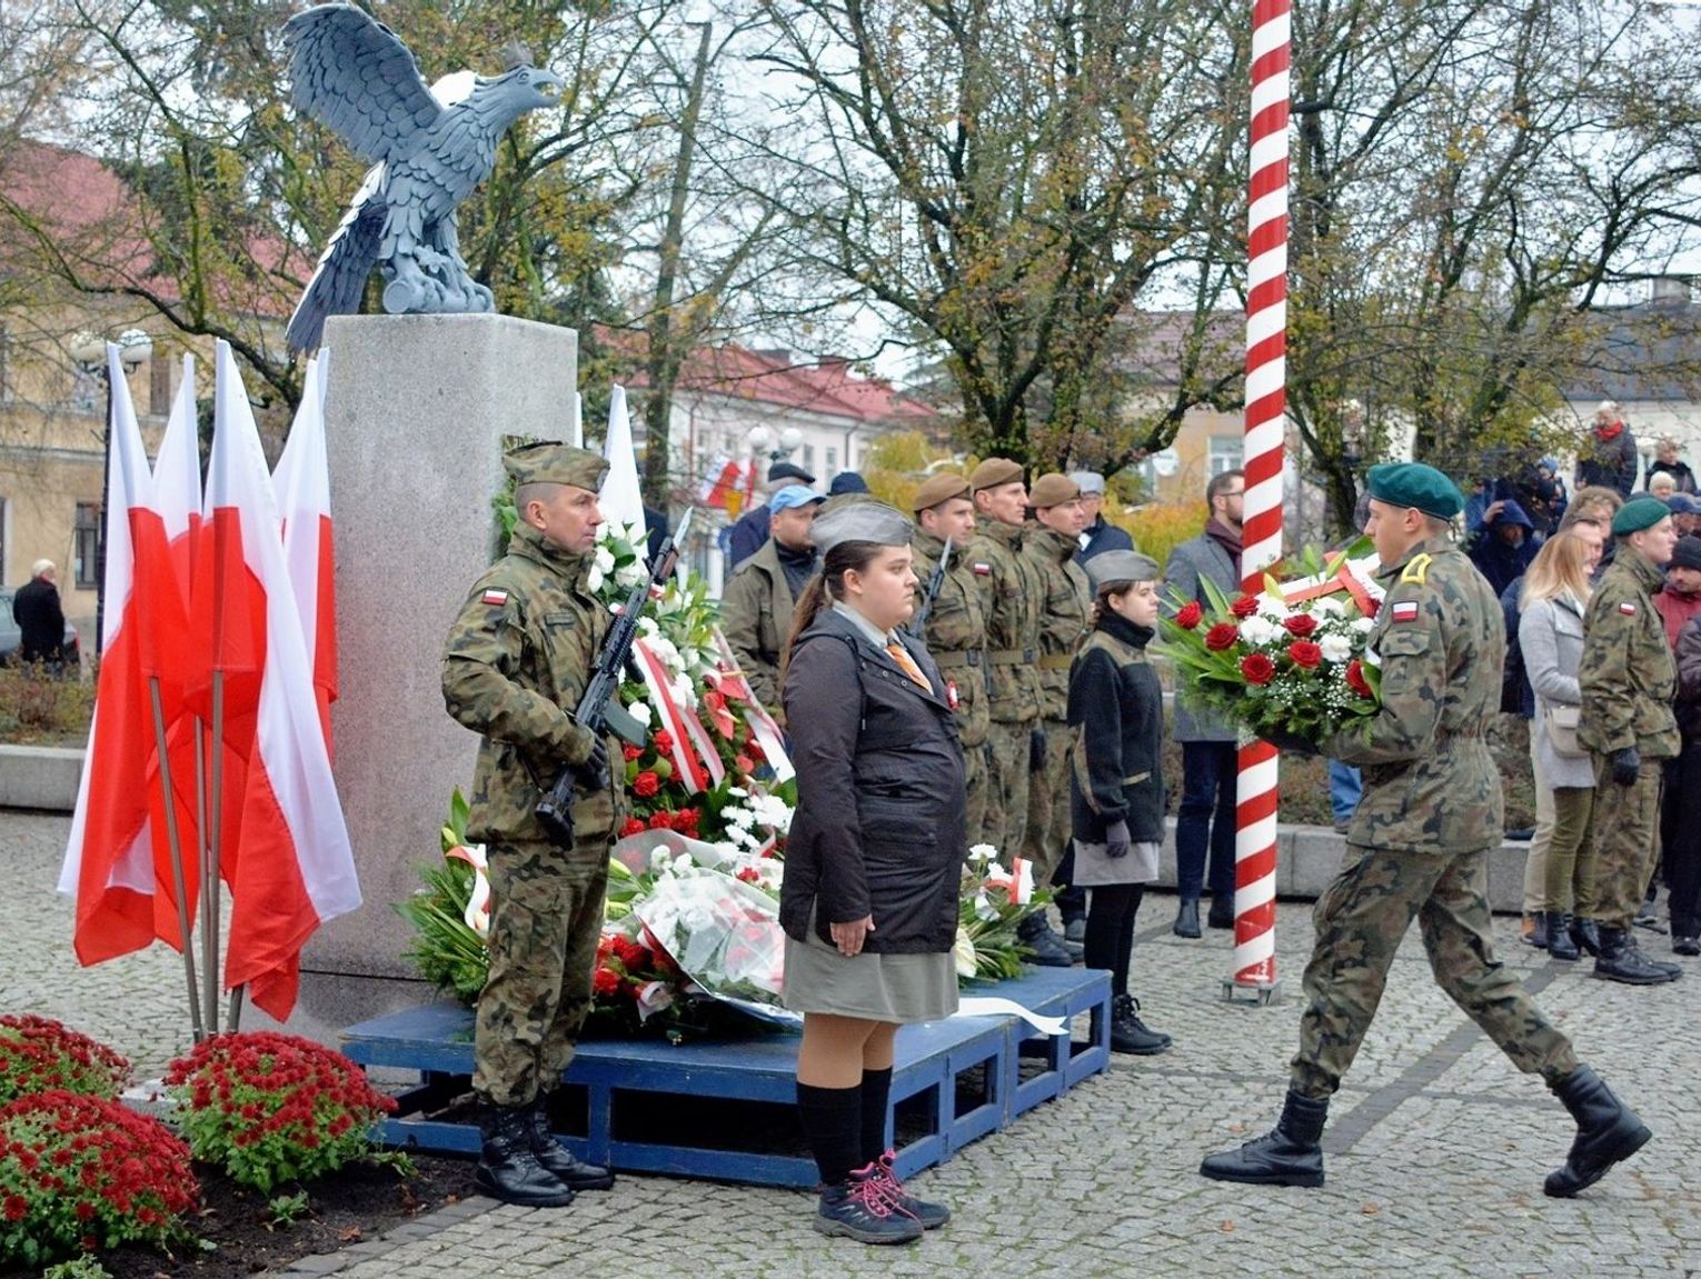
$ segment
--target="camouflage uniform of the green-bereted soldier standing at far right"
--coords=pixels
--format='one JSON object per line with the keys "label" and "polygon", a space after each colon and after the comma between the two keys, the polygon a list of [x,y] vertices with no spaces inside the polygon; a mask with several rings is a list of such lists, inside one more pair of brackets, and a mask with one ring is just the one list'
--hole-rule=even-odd
{"label": "camouflage uniform of the green-bereted soldier standing at far right", "polygon": [[[1672,714],[1677,663],[1653,609],[1662,582],[1645,554],[1621,543],[1584,614],[1577,740],[1594,755],[1596,876],[1594,900],[1577,901],[1577,913],[1613,929],[1630,927],[1648,888],[1662,760],[1682,747]],[[1641,755],[1633,786],[1613,781],[1611,757],[1626,747]]]}

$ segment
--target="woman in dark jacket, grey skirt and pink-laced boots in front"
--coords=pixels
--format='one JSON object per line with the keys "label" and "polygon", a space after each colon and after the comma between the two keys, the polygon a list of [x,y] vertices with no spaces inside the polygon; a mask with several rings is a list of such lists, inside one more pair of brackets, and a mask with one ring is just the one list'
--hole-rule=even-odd
{"label": "woman in dark jacket, grey skirt and pink-laced boots in front", "polygon": [[886,1150],[893,1039],[956,1012],[963,748],[946,684],[898,628],[908,519],[881,502],[816,517],[822,575],[798,604],[781,696],[798,769],[779,920],[803,1014],[798,1109],[822,1174],[815,1228],[907,1243],[949,1211],[907,1194]]}

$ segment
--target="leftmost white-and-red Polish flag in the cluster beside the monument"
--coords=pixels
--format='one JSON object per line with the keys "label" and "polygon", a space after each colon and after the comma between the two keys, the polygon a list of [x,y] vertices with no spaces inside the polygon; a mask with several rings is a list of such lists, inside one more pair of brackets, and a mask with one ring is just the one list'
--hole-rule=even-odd
{"label": "leftmost white-and-red Polish flag in the cluster beside the monument", "polygon": [[97,964],[150,946],[179,944],[175,898],[160,830],[163,796],[153,776],[155,733],[139,602],[162,583],[165,537],[151,509],[151,476],[119,349],[107,344],[112,415],[105,493],[105,595],[97,636],[100,675],[88,752],[77,789],[60,891],[77,898],[75,947]]}

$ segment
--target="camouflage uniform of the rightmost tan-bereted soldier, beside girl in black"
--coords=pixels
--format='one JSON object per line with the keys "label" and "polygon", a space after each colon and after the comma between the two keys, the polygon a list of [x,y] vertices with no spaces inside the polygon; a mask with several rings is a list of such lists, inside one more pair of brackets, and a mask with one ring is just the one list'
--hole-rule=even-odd
{"label": "camouflage uniform of the rightmost tan-bereted soldier, beside girl in black", "polygon": [[1022,856],[1034,864],[1034,884],[1051,883],[1070,840],[1068,801],[1068,668],[1092,633],[1092,583],[1075,563],[1073,537],[1031,526],[1022,536],[1022,553],[1044,583],[1044,612],[1039,617],[1038,697],[1039,730],[1046,740],[1044,764],[1034,770],[1027,799],[1027,832]]}

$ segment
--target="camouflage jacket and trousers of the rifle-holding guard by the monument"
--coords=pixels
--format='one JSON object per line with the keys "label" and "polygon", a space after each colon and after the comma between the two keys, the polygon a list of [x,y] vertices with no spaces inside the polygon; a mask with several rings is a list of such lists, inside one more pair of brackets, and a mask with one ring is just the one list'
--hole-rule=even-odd
{"label": "camouflage jacket and trousers of the rifle-holding guard by the monument", "polygon": [[529,1106],[573,1060],[623,815],[621,791],[604,779],[575,782],[570,849],[536,816],[561,769],[594,747],[570,718],[611,621],[589,570],[589,556],[521,524],[444,645],[444,704],[483,736],[466,832],[490,859],[490,975],[478,997],[473,1090],[502,1107]]}

